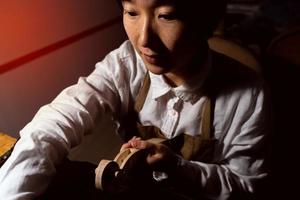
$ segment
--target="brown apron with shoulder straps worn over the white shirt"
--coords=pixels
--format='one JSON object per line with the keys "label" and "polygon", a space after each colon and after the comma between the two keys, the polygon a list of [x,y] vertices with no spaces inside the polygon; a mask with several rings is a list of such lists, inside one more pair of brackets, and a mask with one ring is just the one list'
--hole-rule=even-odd
{"label": "brown apron with shoulder straps worn over the white shirt", "polygon": [[[154,137],[165,138],[165,134],[155,126],[143,126],[138,119],[138,114],[143,108],[150,87],[150,76],[146,73],[143,84],[136,97],[134,111],[127,118],[131,123],[127,123],[126,132],[142,139],[150,139]],[[168,145],[173,151],[180,154],[187,160],[199,160],[203,162],[210,162],[213,157],[214,150],[214,134],[212,128],[214,102],[207,96],[204,103],[204,108],[201,112],[200,134],[197,136],[190,136],[187,134],[179,134],[175,138],[166,140],[165,144]],[[132,122],[133,121],[133,122]],[[131,126],[130,126],[131,125]],[[130,138],[127,138],[130,139]]]}

